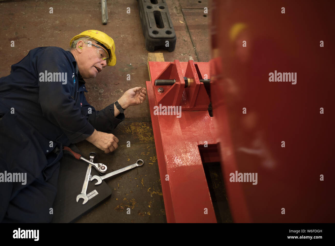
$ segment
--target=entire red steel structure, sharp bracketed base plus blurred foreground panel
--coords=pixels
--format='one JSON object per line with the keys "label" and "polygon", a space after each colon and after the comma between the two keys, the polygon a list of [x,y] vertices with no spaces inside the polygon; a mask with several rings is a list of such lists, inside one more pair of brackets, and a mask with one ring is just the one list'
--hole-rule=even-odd
{"label": "entire red steel structure, sharp bracketed base plus blurred foreground panel", "polygon": [[[216,222],[201,158],[220,160],[234,222],[335,222],[334,3],[211,3],[209,63],[149,62],[167,222]],[[159,104],[181,106],[181,117],[156,115]],[[257,181],[232,179],[236,173]]]}

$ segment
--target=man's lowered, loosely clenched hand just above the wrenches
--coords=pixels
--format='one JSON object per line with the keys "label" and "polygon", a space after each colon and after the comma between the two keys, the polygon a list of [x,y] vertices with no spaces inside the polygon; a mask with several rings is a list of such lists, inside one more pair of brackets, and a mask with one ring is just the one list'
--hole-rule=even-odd
{"label": "man's lowered, loosely clenched hand just above the wrenches", "polygon": [[105,151],[105,153],[113,152],[118,148],[119,140],[113,134],[99,132],[94,129],[91,136],[86,139],[91,144],[95,145],[100,150]]}

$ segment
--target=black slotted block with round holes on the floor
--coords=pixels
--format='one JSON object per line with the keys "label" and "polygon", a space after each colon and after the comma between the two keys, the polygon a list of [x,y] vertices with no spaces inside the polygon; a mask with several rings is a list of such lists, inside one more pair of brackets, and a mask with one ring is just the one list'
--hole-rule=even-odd
{"label": "black slotted block with round holes on the floor", "polygon": [[[137,0],[145,37],[145,49],[175,50],[176,32],[165,0]],[[168,41],[168,42],[166,42]]]}

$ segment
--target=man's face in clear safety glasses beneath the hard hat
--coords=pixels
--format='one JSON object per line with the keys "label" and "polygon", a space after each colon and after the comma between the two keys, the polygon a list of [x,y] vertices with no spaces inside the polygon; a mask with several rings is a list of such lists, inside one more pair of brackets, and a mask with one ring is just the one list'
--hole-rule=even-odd
{"label": "man's face in clear safety glasses beneath the hard hat", "polygon": [[76,49],[78,52],[76,60],[80,75],[84,79],[95,78],[107,66],[107,60],[103,60],[106,58],[107,51],[94,41],[89,43],[80,40],[78,47],[82,48]]}

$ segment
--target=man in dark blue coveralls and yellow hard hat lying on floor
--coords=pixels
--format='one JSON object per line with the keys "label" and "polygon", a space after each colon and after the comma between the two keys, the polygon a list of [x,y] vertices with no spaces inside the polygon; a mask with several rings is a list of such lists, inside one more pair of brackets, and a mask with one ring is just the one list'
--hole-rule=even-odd
{"label": "man in dark blue coveralls and yellow hard hat lying on floor", "polygon": [[114,40],[87,30],[70,47],[33,49],[0,78],[1,222],[51,222],[63,146],[86,139],[114,151],[119,140],[106,132],[125,118],[123,110],[146,98],[146,89],[135,87],[96,111],[83,79],[115,65]]}

